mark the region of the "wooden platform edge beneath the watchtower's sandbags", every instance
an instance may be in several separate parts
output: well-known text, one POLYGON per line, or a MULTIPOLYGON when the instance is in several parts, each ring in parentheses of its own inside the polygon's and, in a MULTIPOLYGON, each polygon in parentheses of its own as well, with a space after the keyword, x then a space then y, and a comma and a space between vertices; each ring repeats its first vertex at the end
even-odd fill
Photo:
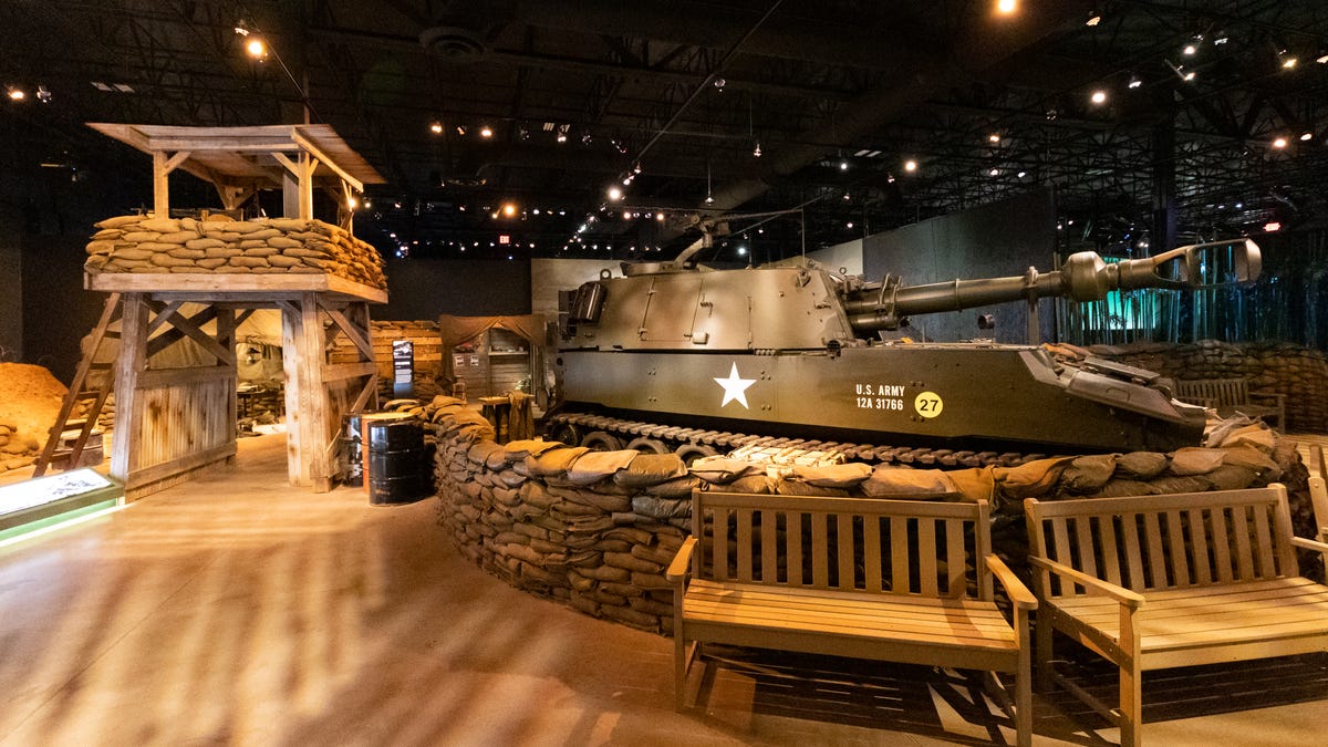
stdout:
MULTIPOLYGON (((90 291, 150 292, 161 300, 275 302, 291 294, 329 294, 339 300, 386 303, 388 291, 313 272, 85 272, 90 291)), ((327 298, 327 296, 325 296, 327 298)))

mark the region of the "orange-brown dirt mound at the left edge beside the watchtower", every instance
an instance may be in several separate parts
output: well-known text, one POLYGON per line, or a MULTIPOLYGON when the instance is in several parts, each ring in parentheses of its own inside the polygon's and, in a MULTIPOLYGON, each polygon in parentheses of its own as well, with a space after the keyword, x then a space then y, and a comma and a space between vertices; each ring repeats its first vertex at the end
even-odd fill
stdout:
POLYGON ((0 472, 32 464, 65 391, 41 366, 0 363, 0 472))

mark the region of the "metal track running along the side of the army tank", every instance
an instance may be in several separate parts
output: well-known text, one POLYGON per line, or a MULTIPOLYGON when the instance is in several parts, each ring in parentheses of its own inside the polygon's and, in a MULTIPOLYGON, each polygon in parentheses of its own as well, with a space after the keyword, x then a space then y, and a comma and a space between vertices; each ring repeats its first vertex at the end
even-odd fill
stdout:
MULTIPOLYGON (((789 439, 776 436, 753 436, 730 433, 728 431, 705 431, 661 425, 639 420, 623 420, 604 415, 559 412, 544 421, 544 432, 555 433, 560 428, 572 427, 584 439, 591 433, 608 433, 623 441, 624 448, 636 448, 641 440, 656 441, 668 451, 692 449, 700 453, 725 453, 738 448, 774 448, 790 451, 819 451, 842 453, 849 461, 869 464, 904 464, 936 469, 963 469, 971 467, 1016 467, 1029 461, 1046 459, 1041 453, 1017 452, 973 452, 919 447, 887 447, 875 444, 846 444, 839 441, 819 441, 810 439, 789 439)), ((644 444, 643 444, 644 445, 644 444)))

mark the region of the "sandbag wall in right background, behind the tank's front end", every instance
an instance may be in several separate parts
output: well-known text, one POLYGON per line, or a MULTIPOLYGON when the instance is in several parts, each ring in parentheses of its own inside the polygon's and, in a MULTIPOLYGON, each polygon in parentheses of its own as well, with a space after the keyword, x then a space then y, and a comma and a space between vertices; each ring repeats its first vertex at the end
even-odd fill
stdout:
POLYGON ((1289 343, 1218 340, 1048 347, 1072 360, 1092 355, 1171 379, 1248 379, 1251 392, 1287 395, 1288 432, 1328 432, 1328 359, 1317 350, 1289 343))

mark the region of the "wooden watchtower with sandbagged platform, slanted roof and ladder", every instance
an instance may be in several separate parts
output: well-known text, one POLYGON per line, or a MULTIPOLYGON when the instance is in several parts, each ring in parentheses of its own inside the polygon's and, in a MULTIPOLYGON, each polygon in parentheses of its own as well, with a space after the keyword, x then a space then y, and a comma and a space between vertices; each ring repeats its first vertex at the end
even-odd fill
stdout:
MULTIPOLYGON (((89 400, 81 448, 113 385, 110 473, 129 500, 232 461, 235 328, 255 308, 278 308, 290 481, 331 489, 344 416, 376 405, 369 303, 388 294, 382 261, 351 235, 349 211, 337 225, 313 219, 313 190, 329 189, 345 205, 384 179, 325 125, 90 126, 151 156, 153 211, 98 223, 88 246, 84 284, 109 296, 52 440, 68 433, 76 403, 89 400), (173 217, 175 169, 212 183, 230 214, 173 217), (286 215, 239 219, 240 205, 266 189, 282 190, 286 215), (98 379, 97 348, 114 336, 117 318, 118 355, 98 379), (328 362, 340 335, 360 360, 328 362), (186 355, 165 355, 181 346, 186 355)), ((48 443, 39 475, 52 451, 48 443)))

